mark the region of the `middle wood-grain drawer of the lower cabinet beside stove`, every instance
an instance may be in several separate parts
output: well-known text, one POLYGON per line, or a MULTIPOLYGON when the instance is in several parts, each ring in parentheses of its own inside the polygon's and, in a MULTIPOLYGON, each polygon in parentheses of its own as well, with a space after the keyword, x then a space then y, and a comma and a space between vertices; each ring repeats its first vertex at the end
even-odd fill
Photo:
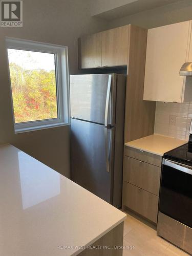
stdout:
POLYGON ((124 161, 124 181, 159 196, 161 168, 127 156, 124 161))

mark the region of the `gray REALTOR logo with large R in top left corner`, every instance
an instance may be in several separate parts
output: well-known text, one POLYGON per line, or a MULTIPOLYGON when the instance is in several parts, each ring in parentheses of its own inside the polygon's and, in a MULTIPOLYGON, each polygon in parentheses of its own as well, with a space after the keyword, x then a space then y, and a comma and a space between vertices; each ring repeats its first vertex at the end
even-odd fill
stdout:
POLYGON ((23 27, 23 1, 1 1, 1 27, 23 27))

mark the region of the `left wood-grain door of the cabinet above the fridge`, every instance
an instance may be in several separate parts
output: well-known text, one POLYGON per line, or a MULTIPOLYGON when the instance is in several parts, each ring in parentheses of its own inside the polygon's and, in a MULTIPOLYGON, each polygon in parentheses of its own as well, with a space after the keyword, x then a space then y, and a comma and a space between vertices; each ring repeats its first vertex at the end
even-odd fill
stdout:
POLYGON ((101 67, 102 33, 96 33, 79 39, 79 68, 101 67))

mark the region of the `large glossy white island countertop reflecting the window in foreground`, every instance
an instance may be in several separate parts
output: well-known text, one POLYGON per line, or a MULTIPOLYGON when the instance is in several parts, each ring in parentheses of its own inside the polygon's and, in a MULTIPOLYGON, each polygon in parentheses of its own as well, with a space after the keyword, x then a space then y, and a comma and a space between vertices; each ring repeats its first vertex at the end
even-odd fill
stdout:
POLYGON ((76 255, 125 218, 16 147, 0 146, 0 255, 76 255))

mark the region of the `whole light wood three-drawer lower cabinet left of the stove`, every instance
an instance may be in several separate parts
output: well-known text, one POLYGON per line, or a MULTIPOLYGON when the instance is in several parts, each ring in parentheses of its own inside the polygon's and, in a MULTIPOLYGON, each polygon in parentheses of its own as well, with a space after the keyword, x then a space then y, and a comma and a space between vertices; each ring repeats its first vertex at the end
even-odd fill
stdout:
POLYGON ((122 208, 157 223, 162 157, 124 147, 122 208))

